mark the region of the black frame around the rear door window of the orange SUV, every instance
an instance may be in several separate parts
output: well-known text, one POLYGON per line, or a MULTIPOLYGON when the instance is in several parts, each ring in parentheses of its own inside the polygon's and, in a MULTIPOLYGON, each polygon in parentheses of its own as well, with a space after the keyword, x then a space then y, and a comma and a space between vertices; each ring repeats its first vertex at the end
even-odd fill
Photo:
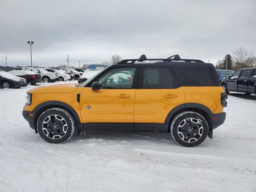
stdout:
POLYGON ((172 68, 169 66, 143 66, 140 67, 139 70, 139 76, 138 76, 138 84, 137 84, 137 89, 153 89, 153 88, 143 88, 143 72, 144 68, 167 68, 172 76, 172 88, 155 88, 155 89, 176 89, 180 87, 180 83, 178 82, 176 76, 174 75, 174 72, 172 71, 172 68), (174 84, 175 82, 175 84, 174 84))

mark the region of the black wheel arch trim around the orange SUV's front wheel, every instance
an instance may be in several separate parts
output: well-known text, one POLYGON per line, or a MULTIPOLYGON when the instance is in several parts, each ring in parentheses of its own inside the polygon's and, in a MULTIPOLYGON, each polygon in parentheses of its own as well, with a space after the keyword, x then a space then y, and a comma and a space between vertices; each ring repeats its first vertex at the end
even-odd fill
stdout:
POLYGON ((80 122, 80 118, 79 118, 76 110, 74 110, 74 108, 72 108, 70 105, 68 105, 64 102, 61 102, 61 101, 47 101, 47 102, 43 102, 43 103, 39 104, 38 106, 36 106, 33 109, 33 112, 34 112, 34 128, 35 128, 36 133, 38 133, 36 125, 37 125, 37 121, 38 121, 39 116, 44 111, 46 111, 50 108, 55 108, 55 107, 63 108, 63 109, 66 109, 68 112, 70 112, 70 114, 76 120, 77 128, 80 129, 80 126, 82 126, 82 123, 80 122))

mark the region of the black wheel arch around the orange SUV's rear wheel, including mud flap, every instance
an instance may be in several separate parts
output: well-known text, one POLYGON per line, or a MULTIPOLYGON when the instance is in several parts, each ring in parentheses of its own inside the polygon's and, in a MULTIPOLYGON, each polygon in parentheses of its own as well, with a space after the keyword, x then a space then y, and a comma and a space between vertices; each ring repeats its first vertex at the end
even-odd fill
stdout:
MULTIPOLYGON (((211 122, 211 118, 209 115, 209 114, 212 114, 212 110, 210 110, 210 108, 208 108, 202 104, 185 103, 185 104, 178 105, 168 113, 164 123, 170 125, 172 119, 177 114, 184 112, 184 111, 193 111, 193 112, 196 112, 196 113, 202 115, 205 118, 206 122, 208 123, 208 127, 209 127, 208 137, 210 137, 212 139, 212 122, 211 122)), ((170 126, 168 126, 168 132, 170 132, 170 126)))

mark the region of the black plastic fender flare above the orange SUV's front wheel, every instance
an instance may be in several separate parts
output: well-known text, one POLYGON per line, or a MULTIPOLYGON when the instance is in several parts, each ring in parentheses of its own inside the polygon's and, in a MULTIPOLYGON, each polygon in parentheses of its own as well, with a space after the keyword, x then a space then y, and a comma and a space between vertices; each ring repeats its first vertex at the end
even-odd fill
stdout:
MULTIPOLYGON (((34 112, 34 114, 37 114, 37 112, 40 110, 40 109, 42 109, 42 108, 44 108, 44 107, 46 107, 46 106, 56 106, 56 107, 58 107, 58 106, 61 106, 61 107, 64 107, 64 108, 66 108, 66 109, 68 109, 70 112, 71 112, 71 114, 74 116, 74 118, 75 118, 75 120, 76 120, 76 126, 78 127, 78 129, 80 130, 82 130, 83 128, 83 124, 80 122, 80 118, 79 118, 79 116, 78 116, 78 114, 77 114, 77 112, 76 112, 76 110, 74 110, 74 108, 72 108, 70 105, 68 105, 68 104, 66 104, 66 103, 64 103, 64 102, 61 102, 61 101, 46 101, 46 102, 43 102, 43 103, 40 103, 38 106, 36 106, 33 110, 32 110, 32 112, 34 112)), ((38 118, 38 117, 37 117, 38 118)), ((35 131, 36 131, 36 133, 37 133, 37 128, 36 128, 36 122, 35 122, 35 120, 34 120, 34 127, 35 127, 35 131)))

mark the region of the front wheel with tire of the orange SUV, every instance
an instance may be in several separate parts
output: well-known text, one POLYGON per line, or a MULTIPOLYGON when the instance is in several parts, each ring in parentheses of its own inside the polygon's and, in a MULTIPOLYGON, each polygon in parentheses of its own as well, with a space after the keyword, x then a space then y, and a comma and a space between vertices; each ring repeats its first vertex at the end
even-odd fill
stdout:
POLYGON ((49 143, 66 142, 75 130, 75 120, 65 109, 51 108, 43 112, 37 121, 37 130, 49 143))

